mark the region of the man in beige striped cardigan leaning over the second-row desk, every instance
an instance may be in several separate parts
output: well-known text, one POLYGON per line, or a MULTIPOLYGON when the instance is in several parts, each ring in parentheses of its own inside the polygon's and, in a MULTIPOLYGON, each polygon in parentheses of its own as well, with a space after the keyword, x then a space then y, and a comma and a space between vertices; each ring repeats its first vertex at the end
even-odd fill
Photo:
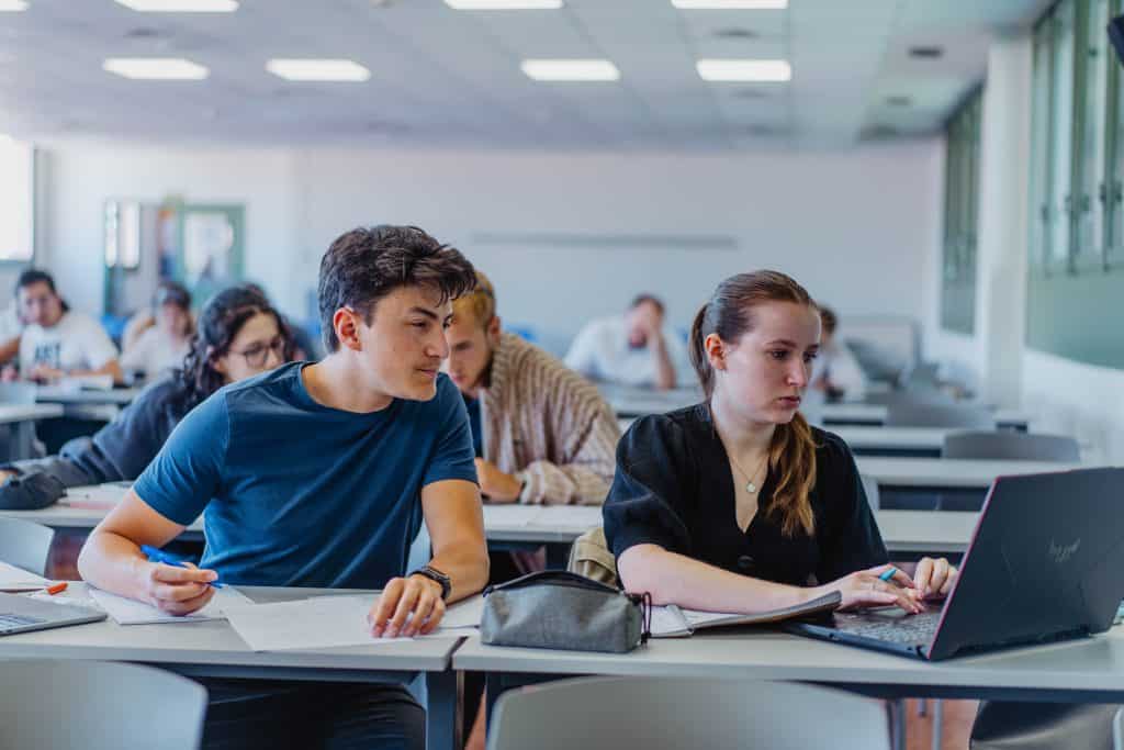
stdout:
POLYGON ((477 286, 453 302, 447 372, 472 424, 477 475, 492 503, 600 505, 620 428, 592 385, 510 333, 496 292, 477 286))

